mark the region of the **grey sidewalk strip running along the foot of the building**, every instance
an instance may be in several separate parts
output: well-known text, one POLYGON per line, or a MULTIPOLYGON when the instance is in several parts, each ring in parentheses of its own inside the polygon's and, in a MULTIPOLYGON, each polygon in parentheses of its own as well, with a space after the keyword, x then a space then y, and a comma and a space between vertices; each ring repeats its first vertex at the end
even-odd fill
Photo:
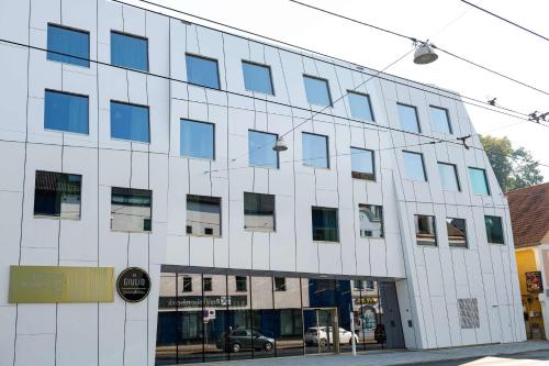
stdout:
POLYGON ((200 365, 211 366, 390 366, 422 364, 428 362, 440 362, 470 357, 483 357, 495 355, 512 355, 523 352, 549 350, 547 341, 528 341, 520 343, 506 343, 482 346, 470 346, 459 348, 445 348, 433 351, 372 351, 359 353, 357 356, 350 354, 341 355, 313 355, 298 357, 246 359, 220 363, 206 363, 200 365))

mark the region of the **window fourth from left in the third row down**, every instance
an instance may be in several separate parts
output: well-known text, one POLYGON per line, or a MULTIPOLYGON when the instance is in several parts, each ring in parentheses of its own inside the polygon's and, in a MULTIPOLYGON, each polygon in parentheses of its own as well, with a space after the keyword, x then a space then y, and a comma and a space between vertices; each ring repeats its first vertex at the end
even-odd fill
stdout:
POLYGON ((274 231, 274 196, 244 192, 244 229, 274 231))

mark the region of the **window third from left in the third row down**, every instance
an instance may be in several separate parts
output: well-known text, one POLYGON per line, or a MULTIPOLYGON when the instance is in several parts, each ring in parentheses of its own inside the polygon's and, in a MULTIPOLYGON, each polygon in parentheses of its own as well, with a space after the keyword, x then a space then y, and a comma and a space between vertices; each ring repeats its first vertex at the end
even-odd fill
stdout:
POLYGON ((192 235, 221 237, 221 198, 187 195, 187 226, 192 235))

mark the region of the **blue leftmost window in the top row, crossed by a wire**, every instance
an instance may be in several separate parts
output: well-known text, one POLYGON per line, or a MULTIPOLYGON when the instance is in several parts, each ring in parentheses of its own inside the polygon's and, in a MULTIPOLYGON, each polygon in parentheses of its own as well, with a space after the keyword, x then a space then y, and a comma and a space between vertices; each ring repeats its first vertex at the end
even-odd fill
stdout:
POLYGON ((47 24, 47 51, 53 51, 47 53, 47 59, 90 67, 88 32, 47 24))

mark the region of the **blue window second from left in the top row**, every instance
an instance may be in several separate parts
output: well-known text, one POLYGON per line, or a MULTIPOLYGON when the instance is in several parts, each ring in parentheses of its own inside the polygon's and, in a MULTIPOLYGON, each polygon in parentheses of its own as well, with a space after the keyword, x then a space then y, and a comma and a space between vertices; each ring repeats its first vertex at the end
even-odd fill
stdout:
POLYGON ((148 71, 147 38, 112 31, 111 64, 148 71))

